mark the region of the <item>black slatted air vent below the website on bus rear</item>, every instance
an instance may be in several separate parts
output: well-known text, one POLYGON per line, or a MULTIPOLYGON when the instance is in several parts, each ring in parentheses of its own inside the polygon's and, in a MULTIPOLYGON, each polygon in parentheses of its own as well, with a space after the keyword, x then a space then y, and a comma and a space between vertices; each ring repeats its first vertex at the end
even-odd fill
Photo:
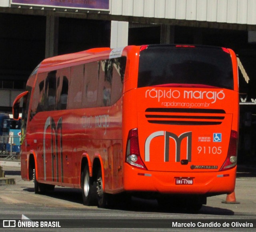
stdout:
POLYGON ((225 118, 223 109, 148 108, 149 123, 166 125, 220 125, 225 118))

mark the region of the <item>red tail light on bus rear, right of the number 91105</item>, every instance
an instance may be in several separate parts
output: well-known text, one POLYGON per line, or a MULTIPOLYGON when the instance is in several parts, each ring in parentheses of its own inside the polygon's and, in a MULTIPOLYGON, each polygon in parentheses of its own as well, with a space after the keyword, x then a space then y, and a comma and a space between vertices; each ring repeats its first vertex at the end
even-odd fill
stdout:
POLYGON ((231 131, 230 141, 228 146, 228 155, 220 171, 226 171, 236 166, 237 146, 238 146, 238 133, 237 131, 231 131))

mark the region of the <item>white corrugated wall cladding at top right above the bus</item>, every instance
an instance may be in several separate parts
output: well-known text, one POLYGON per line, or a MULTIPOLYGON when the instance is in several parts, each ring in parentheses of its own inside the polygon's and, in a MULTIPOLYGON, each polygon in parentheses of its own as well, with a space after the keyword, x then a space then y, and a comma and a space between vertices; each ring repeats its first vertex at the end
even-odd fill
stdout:
POLYGON ((256 0, 110 0, 110 14, 256 24, 256 0))

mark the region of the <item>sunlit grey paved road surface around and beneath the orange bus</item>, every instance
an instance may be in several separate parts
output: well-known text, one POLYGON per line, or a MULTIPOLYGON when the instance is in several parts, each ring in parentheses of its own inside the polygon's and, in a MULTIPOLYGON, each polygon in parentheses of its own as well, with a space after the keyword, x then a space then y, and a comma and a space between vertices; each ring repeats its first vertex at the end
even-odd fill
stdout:
MULTIPOLYGON (((151 219, 256 220, 256 174, 254 169, 248 171, 248 169, 241 167, 237 175, 235 194, 236 200, 240 204, 222 204, 221 202, 226 199, 226 195, 213 196, 208 198, 207 205, 203 206, 198 214, 188 214, 181 210, 161 210, 155 200, 141 200, 138 198, 134 198, 132 205, 129 207, 120 206, 111 210, 84 206, 80 190, 56 187, 54 192, 48 195, 34 194, 34 183, 23 181, 20 178, 20 168, 3 166, 3 169, 6 176, 16 178, 16 184, 0 186, 1 219, 21 219, 23 214, 30 219, 97 219, 96 223, 99 225, 100 223, 106 223, 106 221, 99 219, 129 219, 131 224, 135 223, 137 219, 146 219, 148 222, 158 222, 159 225, 161 224, 160 221, 151 219)), ((110 223, 113 223, 111 220, 110 223)), ((115 222, 118 223, 118 221, 115 222)), ((154 224, 153 227, 158 226, 154 224)), ((103 230, 119 231, 120 229, 98 229, 97 231, 103 230)), ((127 229, 127 231, 130 230, 127 229)), ((193 229, 190 228, 190 230, 193 229)), ((223 229, 223 231, 227 230, 234 231, 234 229, 223 229)), ((246 230, 248 229, 244 231, 246 230)), ((54 231, 58 231, 58 229, 54 231)), ((70 229, 61 229, 59 231, 70 231, 70 229)), ((96 230, 87 228, 84 231, 96 230)), ((122 229, 122 231, 126 230, 122 229)), ((153 230, 152 228, 143 228, 136 231, 153 230)), ((154 231, 164 231, 164 229, 156 228, 154 231)), ((205 228, 204 231, 206 231, 205 228)))

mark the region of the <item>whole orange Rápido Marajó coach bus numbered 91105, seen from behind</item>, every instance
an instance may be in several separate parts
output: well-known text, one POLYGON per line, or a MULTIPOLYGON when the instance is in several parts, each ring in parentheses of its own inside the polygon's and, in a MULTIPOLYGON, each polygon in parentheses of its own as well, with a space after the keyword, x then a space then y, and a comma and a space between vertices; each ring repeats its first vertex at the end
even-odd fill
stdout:
POLYGON ((238 69, 226 48, 145 45, 48 58, 23 99, 21 175, 35 192, 81 188, 85 205, 121 193, 200 209, 234 191, 238 69))

